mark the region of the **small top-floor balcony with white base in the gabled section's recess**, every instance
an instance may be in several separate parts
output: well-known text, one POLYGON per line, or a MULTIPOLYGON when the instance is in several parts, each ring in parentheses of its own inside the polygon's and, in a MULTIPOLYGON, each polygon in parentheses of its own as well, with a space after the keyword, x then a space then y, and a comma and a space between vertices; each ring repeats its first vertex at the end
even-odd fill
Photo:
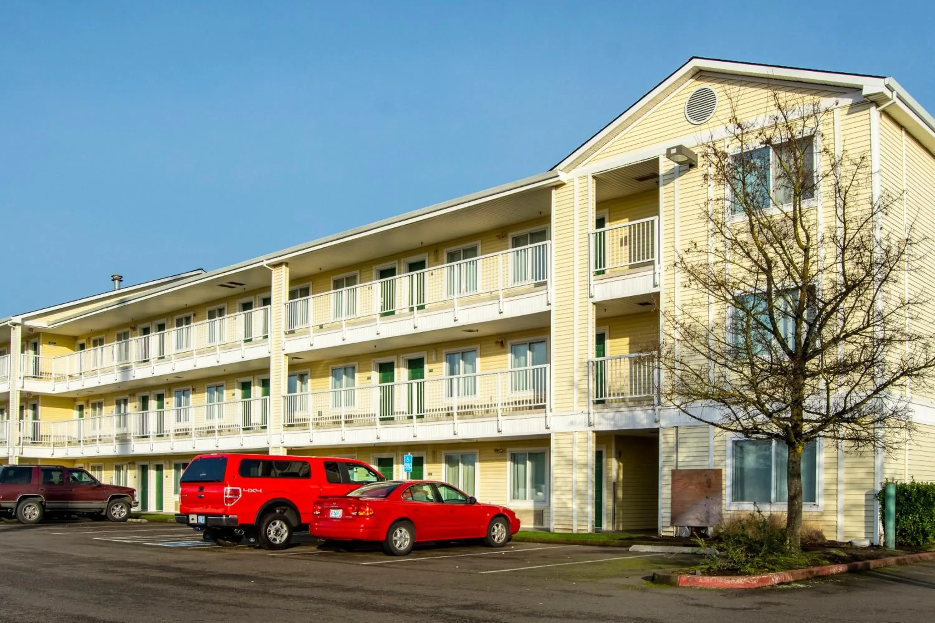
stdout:
POLYGON ((609 301, 657 291, 658 235, 658 217, 592 231, 588 237, 591 298, 609 301))

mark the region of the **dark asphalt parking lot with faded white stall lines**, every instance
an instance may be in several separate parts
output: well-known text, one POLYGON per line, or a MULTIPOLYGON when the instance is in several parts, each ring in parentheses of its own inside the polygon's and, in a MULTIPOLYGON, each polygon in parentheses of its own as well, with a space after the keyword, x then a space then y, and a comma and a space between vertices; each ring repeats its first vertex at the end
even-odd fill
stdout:
POLYGON ((0 621, 928 621, 935 564, 783 588, 660 588, 691 557, 511 543, 281 552, 174 524, 0 524, 0 621))

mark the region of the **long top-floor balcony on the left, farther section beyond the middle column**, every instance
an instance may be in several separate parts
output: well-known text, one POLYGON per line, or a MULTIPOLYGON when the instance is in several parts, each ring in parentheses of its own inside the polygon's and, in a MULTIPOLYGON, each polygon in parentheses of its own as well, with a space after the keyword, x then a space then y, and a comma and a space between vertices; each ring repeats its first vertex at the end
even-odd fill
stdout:
POLYGON ((23 389, 69 391, 269 357, 269 308, 58 357, 22 354, 23 389))

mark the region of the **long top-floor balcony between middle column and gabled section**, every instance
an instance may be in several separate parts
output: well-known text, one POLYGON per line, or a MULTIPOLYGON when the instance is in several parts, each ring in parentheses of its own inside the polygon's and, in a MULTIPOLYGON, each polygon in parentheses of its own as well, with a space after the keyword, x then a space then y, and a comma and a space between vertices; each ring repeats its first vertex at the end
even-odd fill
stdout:
POLYGON ((551 244, 543 242, 289 301, 285 349, 364 345, 445 329, 455 335, 465 325, 501 319, 525 317, 525 326, 536 326, 528 317, 548 311, 550 266, 551 244))

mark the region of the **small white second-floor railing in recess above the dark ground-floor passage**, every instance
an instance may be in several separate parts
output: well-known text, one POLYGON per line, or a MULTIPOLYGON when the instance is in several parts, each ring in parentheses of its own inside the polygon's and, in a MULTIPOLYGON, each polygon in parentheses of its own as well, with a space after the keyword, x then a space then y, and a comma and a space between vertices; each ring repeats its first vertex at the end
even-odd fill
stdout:
POLYGON ((653 398, 655 378, 654 357, 647 353, 588 361, 588 391, 594 404, 653 398))

